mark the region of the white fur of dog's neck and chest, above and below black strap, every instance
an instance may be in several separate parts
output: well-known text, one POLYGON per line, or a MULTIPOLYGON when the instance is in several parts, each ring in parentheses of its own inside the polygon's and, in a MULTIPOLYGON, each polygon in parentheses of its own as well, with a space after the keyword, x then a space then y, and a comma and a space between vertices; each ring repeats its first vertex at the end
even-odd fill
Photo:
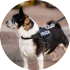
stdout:
POLYGON ((24 55, 30 56, 30 57, 35 57, 33 39, 23 40, 23 39, 21 39, 21 36, 23 36, 24 38, 31 37, 32 35, 36 34, 39 31, 38 25, 36 24, 35 21, 33 21, 33 22, 34 22, 34 25, 30 30, 26 31, 26 30, 24 30, 24 27, 21 26, 17 31, 17 34, 19 35, 19 48, 20 48, 21 52, 24 55))

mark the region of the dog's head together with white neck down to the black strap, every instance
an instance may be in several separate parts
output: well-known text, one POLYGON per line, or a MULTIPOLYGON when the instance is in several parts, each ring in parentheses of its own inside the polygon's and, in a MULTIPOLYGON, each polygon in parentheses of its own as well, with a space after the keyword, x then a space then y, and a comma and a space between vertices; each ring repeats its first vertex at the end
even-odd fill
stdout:
POLYGON ((7 27, 15 30, 18 36, 31 37, 38 32, 39 27, 32 18, 24 14, 22 7, 19 13, 13 15, 11 21, 6 21, 7 27))

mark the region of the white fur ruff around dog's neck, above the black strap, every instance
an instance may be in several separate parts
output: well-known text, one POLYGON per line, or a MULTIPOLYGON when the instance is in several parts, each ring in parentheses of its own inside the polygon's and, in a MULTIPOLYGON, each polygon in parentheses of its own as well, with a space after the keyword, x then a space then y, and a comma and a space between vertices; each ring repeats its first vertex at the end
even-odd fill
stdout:
MULTIPOLYGON (((31 19, 31 18, 30 18, 31 19)), ((32 20, 32 19, 31 19, 32 20)), ((32 20, 33 21, 33 20, 32 20)), ((39 31, 39 27, 35 21, 33 27, 30 30, 24 30, 23 26, 21 26, 18 30, 15 30, 15 33, 18 37, 23 36, 24 38, 29 38, 32 35, 36 34, 39 31)))

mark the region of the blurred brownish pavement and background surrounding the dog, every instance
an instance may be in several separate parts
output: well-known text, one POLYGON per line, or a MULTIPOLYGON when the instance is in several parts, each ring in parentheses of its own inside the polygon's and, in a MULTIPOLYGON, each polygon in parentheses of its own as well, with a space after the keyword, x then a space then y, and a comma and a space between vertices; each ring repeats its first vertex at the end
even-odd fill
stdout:
MULTIPOLYGON (((11 20, 12 16, 19 12, 19 8, 21 6, 23 7, 24 13, 30 16, 39 26, 44 26, 48 21, 51 20, 57 21, 65 15, 55 5, 43 0, 23 1, 8 11, 0 27, 1 47, 11 62, 20 67, 23 67, 23 61, 19 51, 18 37, 15 35, 13 30, 7 28, 6 26, 6 21, 11 20)), ((59 23, 70 42, 70 28, 67 19, 62 20, 59 23)), ((59 60, 61 60, 64 56, 65 51, 63 51, 61 48, 58 48, 56 50, 56 54, 60 55, 61 57, 58 57, 58 61, 55 62, 52 62, 53 57, 50 55, 44 57, 44 69, 49 68, 59 62, 59 60)), ((38 70, 36 59, 29 58, 28 64, 30 70, 38 70)))

